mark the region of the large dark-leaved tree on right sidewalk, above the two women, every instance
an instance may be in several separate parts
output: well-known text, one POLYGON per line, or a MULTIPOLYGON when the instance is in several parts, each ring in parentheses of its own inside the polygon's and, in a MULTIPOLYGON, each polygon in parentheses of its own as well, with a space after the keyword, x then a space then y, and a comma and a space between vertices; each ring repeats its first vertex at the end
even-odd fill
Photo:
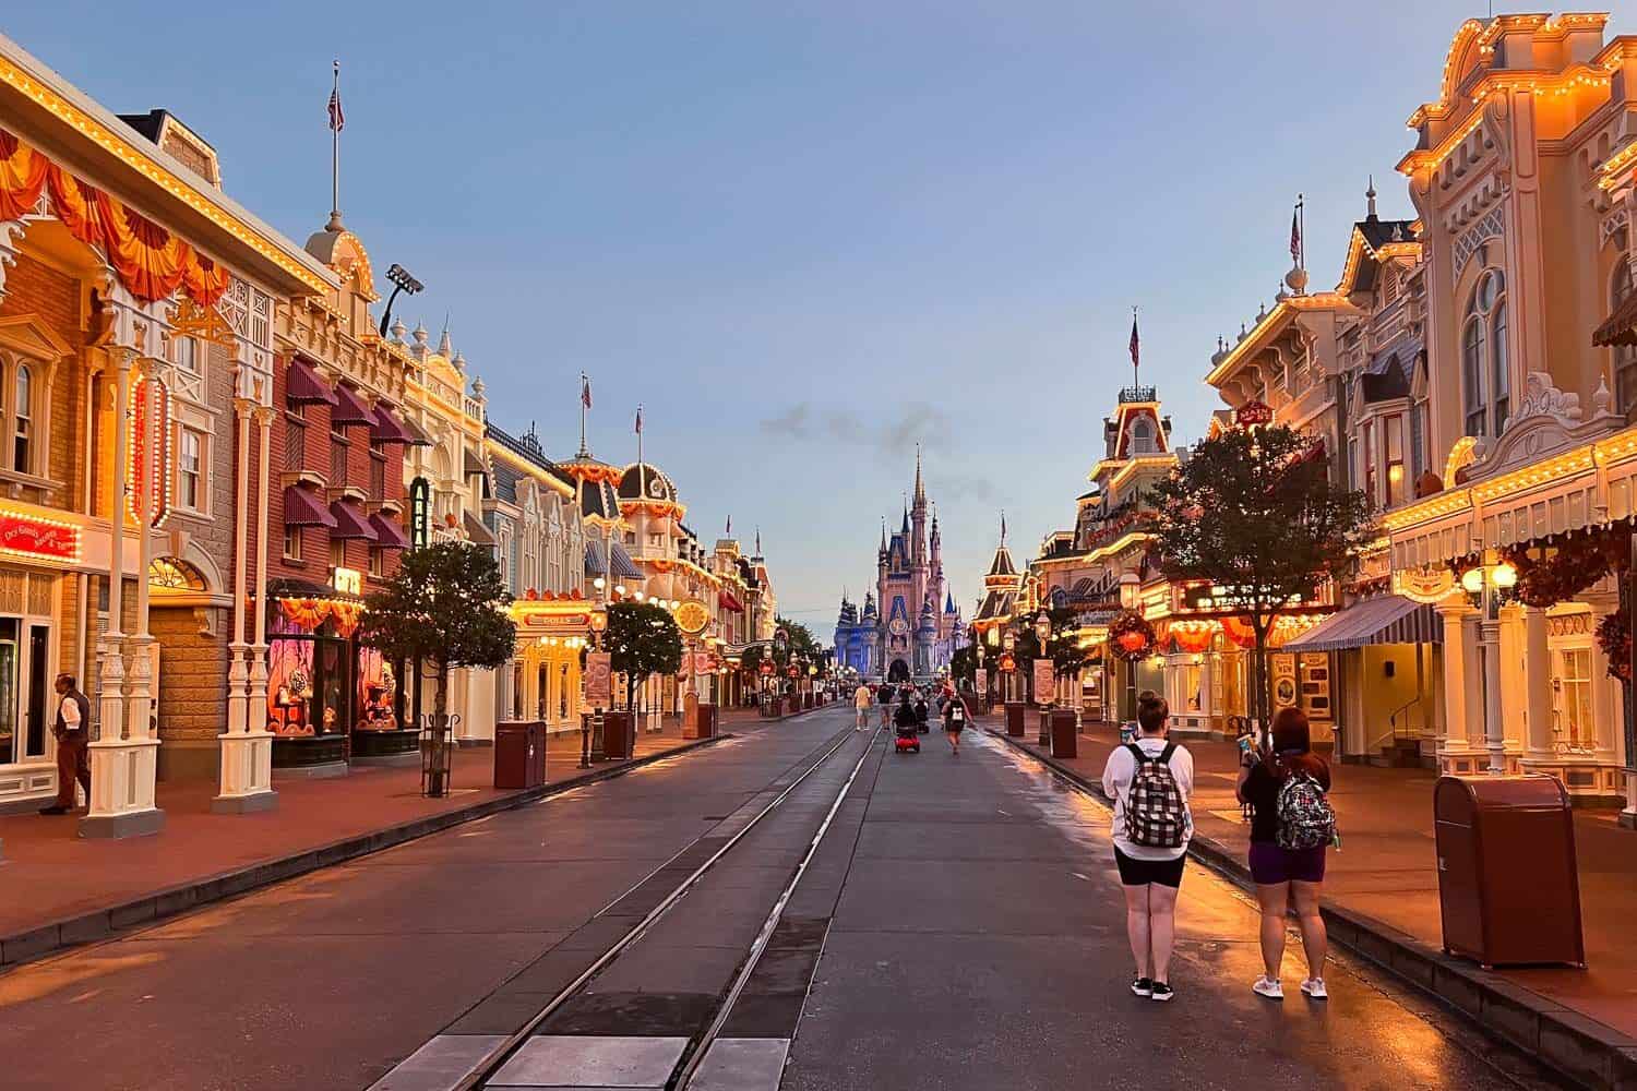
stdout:
POLYGON ((1292 602, 1346 579, 1375 538, 1370 501, 1329 479, 1323 440, 1288 425, 1202 440, 1149 492, 1169 579, 1208 584, 1256 636, 1254 713, 1269 723, 1267 633, 1292 602))

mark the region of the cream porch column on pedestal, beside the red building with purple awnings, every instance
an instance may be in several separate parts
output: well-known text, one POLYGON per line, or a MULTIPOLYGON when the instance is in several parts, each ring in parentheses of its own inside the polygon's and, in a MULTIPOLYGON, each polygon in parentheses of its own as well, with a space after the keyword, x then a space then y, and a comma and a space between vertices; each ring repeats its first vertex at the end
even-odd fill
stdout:
MULTIPOLYGON (((246 550, 250 527, 250 417, 255 402, 234 399, 237 440, 237 494, 234 497, 234 559, 232 559, 232 640, 228 644, 228 731, 221 736, 221 790, 211 800, 218 815, 244 815, 267 811, 278 805, 273 792, 273 744, 267 731, 267 682, 265 662, 262 677, 262 718, 250 730, 250 644, 246 641, 244 612, 252 599, 260 607, 262 595, 246 581, 246 550)), ((267 463, 259 474, 260 494, 267 494, 267 463)))

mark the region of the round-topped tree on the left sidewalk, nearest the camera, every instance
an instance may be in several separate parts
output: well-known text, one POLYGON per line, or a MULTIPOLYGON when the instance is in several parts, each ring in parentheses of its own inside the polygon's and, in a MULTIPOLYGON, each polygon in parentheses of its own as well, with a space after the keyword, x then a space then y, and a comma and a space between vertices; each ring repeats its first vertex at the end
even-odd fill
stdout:
POLYGON ((511 659, 517 630, 506 615, 509 602, 493 550, 435 541, 406 551, 398 571, 363 600, 359 641, 388 662, 431 662, 434 723, 444 723, 452 667, 493 669, 511 659))

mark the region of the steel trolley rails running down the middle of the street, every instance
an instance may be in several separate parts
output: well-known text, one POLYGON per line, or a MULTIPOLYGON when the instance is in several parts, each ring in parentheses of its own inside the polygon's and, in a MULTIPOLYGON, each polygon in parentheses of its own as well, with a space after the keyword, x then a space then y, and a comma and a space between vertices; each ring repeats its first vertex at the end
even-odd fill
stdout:
MULTIPOLYGON (((707 829, 701 837, 694 839, 684 846, 678 854, 668 859, 660 867, 653 869, 647 877, 635 883, 624 895, 616 898, 612 903, 604 906, 602 911, 593 919, 591 924, 599 923, 616 923, 622 918, 619 909, 625 903, 635 903, 638 906, 653 901, 656 891, 663 890, 663 896, 653 901, 652 908, 642 913, 640 919, 630 927, 617 927, 612 936, 612 942, 598 955, 589 965, 576 973, 566 985, 555 991, 543 1004, 529 1016, 521 1027, 514 1032, 504 1035, 498 1044, 483 1053, 483 1057, 467 1070, 467 1075, 457 1083, 452 1083, 453 1091, 478 1091, 488 1086, 507 1086, 511 1080, 504 1083, 491 1083, 498 1075, 501 1075, 509 1063, 512 1063, 521 1052, 525 1050, 529 1042, 540 1034, 547 1034, 553 1029, 553 1021, 560 1016, 571 1017, 570 1011, 576 1004, 584 1004, 588 999, 596 999, 591 996, 594 986, 611 977, 616 970, 624 967, 622 960, 634 959, 634 949, 638 949, 645 937, 655 934, 655 931, 671 916, 689 893, 699 890, 706 882, 712 882, 722 873, 722 864, 730 859, 735 849, 745 844, 746 837, 753 833, 766 829, 766 819, 781 813, 789 813, 791 806, 800 803, 797 808, 802 813, 792 815, 792 821, 804 821, 807 808, 822 810, 822 818, 817 819, 817 828, 810 836, 804 837, 805 844, 794 862, 791 875, 781 883, 776 896, 773 898, 771 911, 760 921, 760 927, 755 937, 750 941, 748 947, 743 949, 743 957, 733 968, 730 980, 725 983, 725 990, 714 998, 714 1006, 709 1017, 701 1019, 702 1029, 688 1032, 686 1047, 674 1062, 665 1088, 681 1089, 688 1088, 696 1078, 701 1063, 709 1053, 710 1045, 720 1037, 728 1016, 733 1011, 735 1003, 742 996, 746 981, 756 972, 761 963, 763 954, 769 949, 769 942, 774 941, 781 916, 791 901, 797 885, 807 873, 807 867, 812 862, 818 846, 823 842, 825 833, 828 833, 837 813, 846 801, 859 770, 864 762, 873 756, 879 754, 879 739, 882 731, 877 728, 868 733, 855 733, 850 728, 843 728, 825 739, 818 748, 809 751, 802 759, 789 765, 779 777, 776 777, 763 792, 751 797, 748 803, 738 808, 733 815, 725 816, 715 826, 707 829), (843 752, 845 751, 845 752, 843 752), (841 754, 840 765, 835 764, 837 756, 841 754), (856 759, 848 762, 848 757, 856 759), (845 770, 845 777, 840 779, 840 787, 830 783, 820 783, 820 780, 828 780, 828 775, 815 780, 815 775, 823 770, 835 770, 840 775, 845 770), (814 801, 817 797, 817 803, 814 801)), ((771 823, 768 823, 771 826, 771 823)), ((724 880, 727 882, 727 880, 724 880)), ((583 1029, 575 1029, 575 1034, 584 1034, 583 1029)), ((391 1075, 381 1081, 380 1086, 391 1086, 391 1075)))

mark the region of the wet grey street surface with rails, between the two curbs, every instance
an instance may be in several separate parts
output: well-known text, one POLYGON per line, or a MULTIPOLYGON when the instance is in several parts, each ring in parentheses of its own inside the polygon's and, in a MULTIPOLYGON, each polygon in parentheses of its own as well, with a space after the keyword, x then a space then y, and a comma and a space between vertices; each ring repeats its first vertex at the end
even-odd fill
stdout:
POLYGON ((1107 813, 966 739, 832 708, 25 965, 5 1086, 1511 1084, 1346 959, 1328 1004, 1254 996, 1252 906, 1197 867, 1177 999, 1136 999, 1107 813))

